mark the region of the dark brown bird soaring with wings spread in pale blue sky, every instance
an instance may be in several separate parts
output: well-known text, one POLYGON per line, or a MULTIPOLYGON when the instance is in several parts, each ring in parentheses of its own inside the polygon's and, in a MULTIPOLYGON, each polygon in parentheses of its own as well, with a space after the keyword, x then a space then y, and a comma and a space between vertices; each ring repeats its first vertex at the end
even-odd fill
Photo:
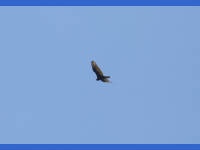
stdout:
POLYGON ((91 61, 91 65, 92 65, 92 70, 96 73, 97 75, 97 81, 101 80, 102 82, 110 82, 108 80, 108 78, 110 78, 110 76, 104 76, 103 72, 101 71, 101 69, 97 66, 97 64, 95 63, 95 61, 91 61))

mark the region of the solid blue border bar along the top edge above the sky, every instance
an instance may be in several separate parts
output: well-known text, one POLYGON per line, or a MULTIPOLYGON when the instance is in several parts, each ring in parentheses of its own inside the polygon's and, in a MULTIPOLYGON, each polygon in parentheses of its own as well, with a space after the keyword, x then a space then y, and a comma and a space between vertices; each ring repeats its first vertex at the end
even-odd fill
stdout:
POLYGON ((200 6, 200 0, 0 0, 0 6, 200 6))

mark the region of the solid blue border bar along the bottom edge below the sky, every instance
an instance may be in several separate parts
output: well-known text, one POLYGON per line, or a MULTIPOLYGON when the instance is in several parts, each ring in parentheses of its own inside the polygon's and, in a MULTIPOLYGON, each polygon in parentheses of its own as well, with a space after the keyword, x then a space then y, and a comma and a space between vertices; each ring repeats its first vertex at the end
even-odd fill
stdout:
POLYGON ((0 150, 200 150, 200 144, 0 144, 0 150))

